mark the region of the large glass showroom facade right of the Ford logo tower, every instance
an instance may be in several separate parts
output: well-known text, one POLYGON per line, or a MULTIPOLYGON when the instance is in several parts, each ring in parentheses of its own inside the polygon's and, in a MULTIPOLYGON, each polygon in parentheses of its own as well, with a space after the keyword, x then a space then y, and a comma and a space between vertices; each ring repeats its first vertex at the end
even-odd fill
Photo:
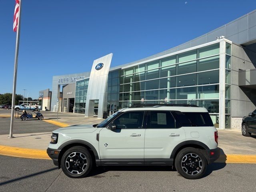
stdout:
MULTIPOLYGON (((231 108, 231 44, 228 43, 225 62, 228 128, 231 108)), ((108 82, 108 112, 133 104, 195 104, 205 107, 214 126, 219 127, 220 43, 110 72, 108 82), (115 78, 117 84, 113 85, 115 78)))

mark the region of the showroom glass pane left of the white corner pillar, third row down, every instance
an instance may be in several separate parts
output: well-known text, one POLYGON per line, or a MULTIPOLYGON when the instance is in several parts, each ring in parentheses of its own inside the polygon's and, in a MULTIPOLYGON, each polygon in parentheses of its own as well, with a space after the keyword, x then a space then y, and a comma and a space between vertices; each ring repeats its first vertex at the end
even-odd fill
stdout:
POLYGON ((198 73, 198 85, 219 83, 219 70, 198 73))

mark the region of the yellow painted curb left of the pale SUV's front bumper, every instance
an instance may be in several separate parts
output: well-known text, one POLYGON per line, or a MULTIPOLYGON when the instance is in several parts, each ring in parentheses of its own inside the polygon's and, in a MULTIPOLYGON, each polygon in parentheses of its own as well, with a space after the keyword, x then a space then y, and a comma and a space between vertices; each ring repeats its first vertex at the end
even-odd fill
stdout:
POLYGON ((0 145, 0 154, 13 157, 23 157, 31 159, 51 159, 46 150, 26 149, 0 145))

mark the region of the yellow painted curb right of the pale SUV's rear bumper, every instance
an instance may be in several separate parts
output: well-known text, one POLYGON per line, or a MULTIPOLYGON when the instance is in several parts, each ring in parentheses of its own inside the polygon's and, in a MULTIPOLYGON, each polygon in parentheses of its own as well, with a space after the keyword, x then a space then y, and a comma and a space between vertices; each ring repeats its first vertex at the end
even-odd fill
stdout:
POLYGON ((256 155, 226 154, 221 155, 216 163, 256 163, 256 155))

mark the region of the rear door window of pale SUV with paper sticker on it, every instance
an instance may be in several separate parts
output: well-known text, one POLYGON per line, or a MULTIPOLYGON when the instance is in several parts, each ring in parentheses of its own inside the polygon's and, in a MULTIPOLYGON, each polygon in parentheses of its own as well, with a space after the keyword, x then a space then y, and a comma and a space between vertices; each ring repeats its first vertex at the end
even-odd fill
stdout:
POLYGON ((151 111, 149 128, 175 128, 175 121, 169 111, 151 111))

